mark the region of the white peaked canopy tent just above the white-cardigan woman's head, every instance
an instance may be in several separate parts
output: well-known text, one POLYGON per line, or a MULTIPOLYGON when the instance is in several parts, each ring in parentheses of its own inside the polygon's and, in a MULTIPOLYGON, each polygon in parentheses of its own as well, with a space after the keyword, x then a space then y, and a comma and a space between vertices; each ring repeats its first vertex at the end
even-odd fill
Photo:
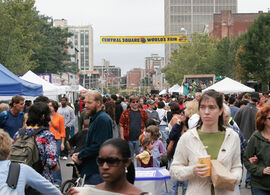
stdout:
POLYGON ((233 79, 230 78, 225 78, 213 85, 211 85, 210 87, 202 90, 202 93, 204 93, 205 91, 209 90, 209 89, 214 89, 218 92, 221 93, 225 93, 225 94, 229 94, 229 93, 244 93, 244 92, 254 92, 255 90, 247 87, 233 79))

